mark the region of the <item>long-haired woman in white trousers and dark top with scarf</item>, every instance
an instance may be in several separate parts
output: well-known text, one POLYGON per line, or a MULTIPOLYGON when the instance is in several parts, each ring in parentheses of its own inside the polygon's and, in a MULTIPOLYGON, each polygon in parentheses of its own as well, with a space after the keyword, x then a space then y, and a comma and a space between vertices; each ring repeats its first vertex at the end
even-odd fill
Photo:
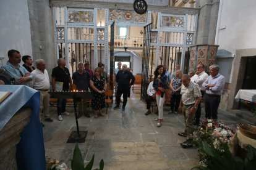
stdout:
POLYGON ((160 127, 163 121, 163 105, 165 101, 164 92, 169 89, 168 78, 164 73, 163 65, 158 65, 158 67, 156 67, 153 87, 156 91, 156 103, 158 105, 158 118, 155 119, 158 123, 156 126, 160 127))

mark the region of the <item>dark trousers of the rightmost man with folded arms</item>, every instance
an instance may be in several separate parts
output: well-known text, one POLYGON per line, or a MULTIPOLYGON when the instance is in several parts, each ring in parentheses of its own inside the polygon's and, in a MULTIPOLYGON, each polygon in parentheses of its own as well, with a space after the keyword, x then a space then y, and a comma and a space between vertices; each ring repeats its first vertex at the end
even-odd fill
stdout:
POLYGON ((205 118, 218 119, 220 100, 220 95, 205 94, 205 118))

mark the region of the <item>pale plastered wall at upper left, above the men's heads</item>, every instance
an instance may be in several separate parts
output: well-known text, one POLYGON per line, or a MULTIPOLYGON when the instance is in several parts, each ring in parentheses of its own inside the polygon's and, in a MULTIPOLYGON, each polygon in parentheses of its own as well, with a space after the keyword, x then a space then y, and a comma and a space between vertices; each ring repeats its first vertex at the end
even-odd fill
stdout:
MULTIPOLYGON (((5 65, 10 49, 32 55, 32 41, 27 0, 0 1, 0 57, 5 65)), ((1 65, 1 63, 0 63, 1 65)))

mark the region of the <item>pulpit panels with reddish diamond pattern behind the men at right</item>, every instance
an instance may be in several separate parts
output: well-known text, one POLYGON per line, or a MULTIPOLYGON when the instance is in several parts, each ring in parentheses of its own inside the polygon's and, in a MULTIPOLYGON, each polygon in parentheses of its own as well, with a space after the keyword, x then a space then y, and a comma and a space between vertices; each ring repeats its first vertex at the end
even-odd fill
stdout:
POLYGON ((218 45, 195 45, 191 46, 189 71, 197 70, 197 65, 203 63, 205 71, 209 70, 210 65, 215 63, 215 58, 218 50, 218 45))

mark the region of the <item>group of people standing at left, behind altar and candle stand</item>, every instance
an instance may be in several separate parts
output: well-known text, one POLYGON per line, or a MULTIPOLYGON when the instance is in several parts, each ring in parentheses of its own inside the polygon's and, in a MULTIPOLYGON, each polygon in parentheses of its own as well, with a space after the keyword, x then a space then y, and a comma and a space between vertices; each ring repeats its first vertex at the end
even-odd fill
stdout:
MULTIPOLYGON (((45 69, 46 64, 43 59, 35 60, 34 68, 32 66, 33 60, 29 55, 21 57, 20 52, 17 50, 8 51, 7 64, 4 65, 4 70, 9 77, 14 78, 14 83, 17 85, 30 86, 40 92, 40 121, 42 122, 43 116, 45 121, 52 122, 53 119, 49 116, 49 88, 50 81, 48 71, 45 69), (23 65, 20 65, 21 59, 23 65)), ((60 58, 57 61, 58 66, 53 68, 51 75, 51 84, 53 91, 58 89, 60 91, 69 91, 73 89, 73 85, 79 91, 91 91, 94 99, 92 100, 92 108, 95 110, 95 118, 103 116, 101 109, 105 107, 105 91, 108 82, 108 73, 104 71, 105 65, 98 63, 98 67, 95 68, 93 73, 90 70, 90 63, 78 63, 78 70, 70 76, 69 69, 66 68, 66 60, 60 58)), ((7 76, 1 77, 1 84, 11 84, 11 81, 7 76)), ((66 111, 66 99, 57 100, 57 114, 59 121, 62 121, 62 115, 70 115, 66 111)), ((87 112, 87 101, 81 100, 78 102, 79 116, 82 113, 90 118, 87 112)), ((42 126, 45 126, 42 123, 42 126)))

